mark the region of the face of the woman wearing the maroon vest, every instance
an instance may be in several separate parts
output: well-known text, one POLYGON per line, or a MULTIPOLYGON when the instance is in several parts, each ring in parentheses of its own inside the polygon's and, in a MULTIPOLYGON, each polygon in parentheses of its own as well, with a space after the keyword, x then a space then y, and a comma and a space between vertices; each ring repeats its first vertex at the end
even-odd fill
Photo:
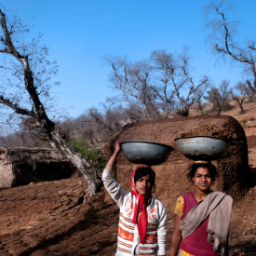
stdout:
POLYGON ((195 171, 195 176, 192 178, 195 183, 195 187, 202 191, 208 191, 212 184, 212 179, 209 174, 209 168, 197 168, 195 171))

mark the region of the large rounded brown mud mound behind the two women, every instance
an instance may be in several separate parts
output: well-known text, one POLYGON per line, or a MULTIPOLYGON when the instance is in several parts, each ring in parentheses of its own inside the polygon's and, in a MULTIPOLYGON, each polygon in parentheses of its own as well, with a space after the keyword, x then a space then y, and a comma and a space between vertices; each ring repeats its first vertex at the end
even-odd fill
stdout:
MULTIPOLYGON (((213 162, 218 168, 220 178, 215 189, 224 191, 238 200, 248 190, 249 164, 245 132, 231 116, 195 116, 173 119, 152 120, 129 125, 105 146, 106 160, 112 155, 115 140, 119 141, 157 141, 172 146, 175 151, 168 161, 154 167, 156 172, 155 196, 163 201, 171 216, 175 200, 179 195, 191 190, 193 184, 187 181, 187 168, 193 163, 177 149, 174 141, 182 136, 214 136, 233 139, 234 143, 225 159, 213 162)), ((129 177, 135 165, 120 154, 115 166, 115 178, 129 191, 129 177)), ((106 198, 109 200, 109 197, 106 198)))

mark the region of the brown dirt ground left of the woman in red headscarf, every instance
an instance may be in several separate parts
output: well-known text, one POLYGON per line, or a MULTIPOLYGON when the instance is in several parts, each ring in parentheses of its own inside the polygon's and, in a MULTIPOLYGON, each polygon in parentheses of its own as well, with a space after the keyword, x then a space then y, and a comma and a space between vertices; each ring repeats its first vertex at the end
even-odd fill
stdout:
POLYGON ((83 202, 82 178, 0 192, 0 255, 113 255, 118 208, 83 202), (43 210, 42 210, 43 209, 43 210))

